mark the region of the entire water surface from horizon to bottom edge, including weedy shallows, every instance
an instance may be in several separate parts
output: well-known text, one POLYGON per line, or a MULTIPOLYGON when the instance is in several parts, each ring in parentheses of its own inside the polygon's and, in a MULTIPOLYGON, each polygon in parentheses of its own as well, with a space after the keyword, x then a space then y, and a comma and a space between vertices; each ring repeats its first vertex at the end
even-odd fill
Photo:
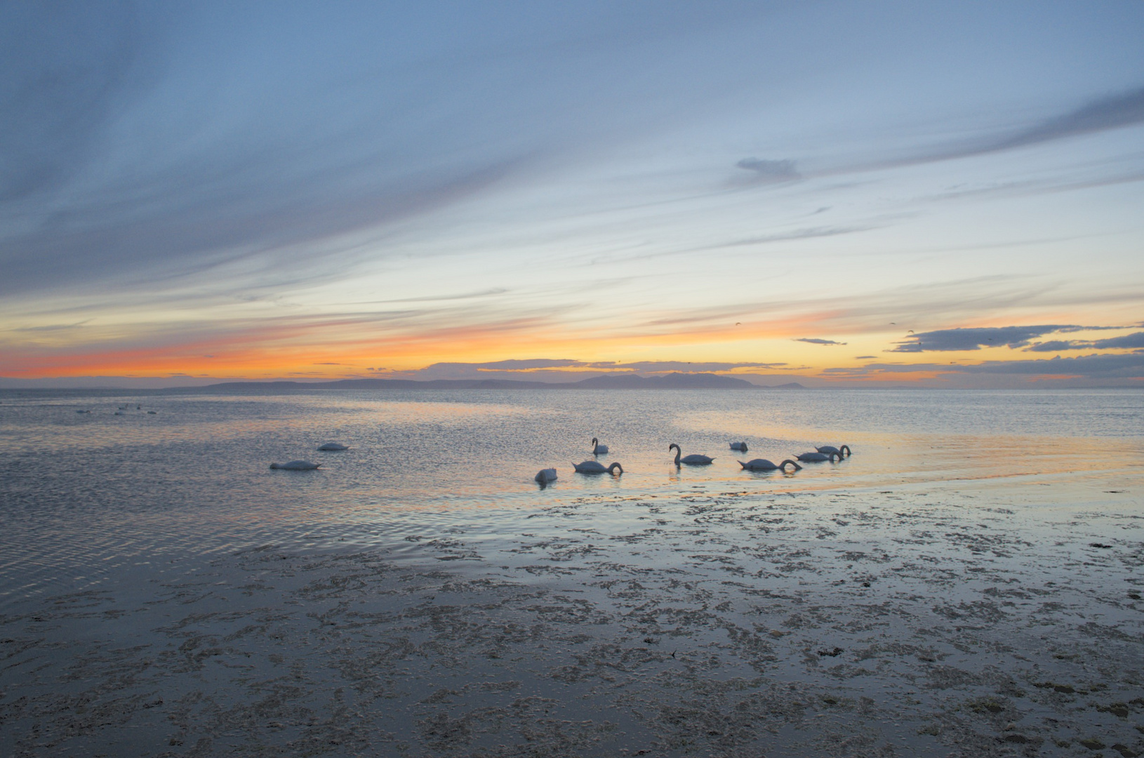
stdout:
POLYGON ((0 752, 1144 755, 1142 420, 1129 391, 9 392, 0 752), (594 436, 626 473, 571 472, 594 436), (855 453, 747 473, 732 439, 855 453), (295 457, 323 468, 268 468, 295 457))

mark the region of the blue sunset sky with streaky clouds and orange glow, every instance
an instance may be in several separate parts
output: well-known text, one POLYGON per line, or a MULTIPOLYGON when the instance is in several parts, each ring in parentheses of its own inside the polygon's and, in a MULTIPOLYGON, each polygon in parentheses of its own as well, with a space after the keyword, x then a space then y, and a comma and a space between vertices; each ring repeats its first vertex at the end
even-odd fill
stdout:
POLYGON ((0 2, 0 386, 1144 386, 1144 3, 0 2))

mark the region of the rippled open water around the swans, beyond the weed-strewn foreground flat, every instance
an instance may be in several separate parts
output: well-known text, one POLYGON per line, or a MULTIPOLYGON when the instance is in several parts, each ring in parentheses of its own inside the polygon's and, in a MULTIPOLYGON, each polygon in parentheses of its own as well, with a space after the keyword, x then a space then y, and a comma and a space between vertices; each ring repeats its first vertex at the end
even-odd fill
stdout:
POLYGON ((1036 478, 1052 497, 1083 498, 1135 486, 1142 455, 1144 393, 1130 390, 8 391, 0 598, 81 589, 168 556, 392 542, 447 529, 462 511, 491 535, 518 534, 530 508, 599 495, 1036 478), (593 458, 593 437, 611 447, 601 462, 619 461, 622 476, 573 473, 572 462, 593 458), (728 447, 740 439, 746 455, 728 447), (317 452, 325 441, 350 449, 317 452), (670 442, 715 463, 676 469, 670 442), (793 474, 736 463, 825 444, 848 444, 853 456, 793 474), (321 469, 269 469, 294 458, 321 469), (541 489, 532 478, 548 466, 559 479, 541 489))

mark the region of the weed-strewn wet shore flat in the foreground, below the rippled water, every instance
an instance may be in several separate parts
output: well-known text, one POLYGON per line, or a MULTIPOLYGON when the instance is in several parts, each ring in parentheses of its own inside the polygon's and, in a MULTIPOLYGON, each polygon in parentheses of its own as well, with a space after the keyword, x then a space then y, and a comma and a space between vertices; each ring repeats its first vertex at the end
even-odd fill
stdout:
POLYGON ((1139 494, 1044 482, 594 496, 13 603, 0 752, 1144 755, 1139 494))

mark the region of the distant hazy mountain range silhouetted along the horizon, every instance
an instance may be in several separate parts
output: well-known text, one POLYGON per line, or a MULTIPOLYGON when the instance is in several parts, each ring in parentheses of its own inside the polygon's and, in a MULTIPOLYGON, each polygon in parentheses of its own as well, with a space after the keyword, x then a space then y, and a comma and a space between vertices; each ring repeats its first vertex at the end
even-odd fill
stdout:
POLYGON ((336 382, 223 382, 206 386, 177 388, 184 392, 243 392, 288 390, 801 390, 797 382, 764 388, 718 374, 636 374, 593 376, 579 382, 523 382, 517 380, 339 380, 336 382))

